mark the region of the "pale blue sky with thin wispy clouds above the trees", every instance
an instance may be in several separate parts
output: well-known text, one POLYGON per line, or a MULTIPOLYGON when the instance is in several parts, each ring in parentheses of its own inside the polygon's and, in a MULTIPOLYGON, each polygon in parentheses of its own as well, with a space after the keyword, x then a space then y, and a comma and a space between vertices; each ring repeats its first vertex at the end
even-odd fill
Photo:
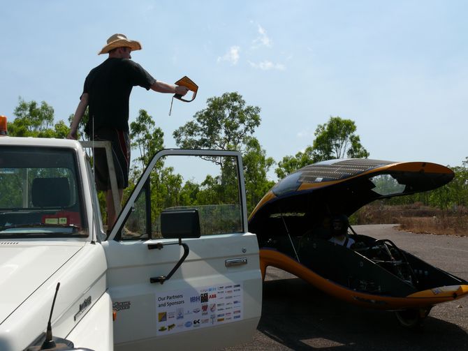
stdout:
POLYGON ((192 103, 136 87, 173 130, 207 98, 239 92, 261 107, 256 132, 276 161, 312 144, 330 116, 352 119, 371 158, 461 165, 468 156, 467 1, 2 1, 0 114, 18 96, 75 111, 85 76, 113 33, 157 80, 188 75, 192 103))

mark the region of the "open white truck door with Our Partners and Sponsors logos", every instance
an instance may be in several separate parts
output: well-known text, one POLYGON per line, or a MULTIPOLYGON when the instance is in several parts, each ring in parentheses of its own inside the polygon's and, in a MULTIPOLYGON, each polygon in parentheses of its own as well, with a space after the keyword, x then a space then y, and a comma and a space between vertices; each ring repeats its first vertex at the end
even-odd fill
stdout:
POLYGON ((262 285, 239 152, 160 151, 103 248, 116 350, 212 350, 250 340, 262 285))

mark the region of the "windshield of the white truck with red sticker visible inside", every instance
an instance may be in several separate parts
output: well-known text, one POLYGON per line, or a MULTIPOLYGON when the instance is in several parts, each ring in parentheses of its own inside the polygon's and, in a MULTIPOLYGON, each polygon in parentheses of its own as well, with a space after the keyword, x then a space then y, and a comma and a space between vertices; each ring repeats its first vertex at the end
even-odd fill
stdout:
POLYGON ((86 237, 72 149, 2 147, 0 239, 86 237))

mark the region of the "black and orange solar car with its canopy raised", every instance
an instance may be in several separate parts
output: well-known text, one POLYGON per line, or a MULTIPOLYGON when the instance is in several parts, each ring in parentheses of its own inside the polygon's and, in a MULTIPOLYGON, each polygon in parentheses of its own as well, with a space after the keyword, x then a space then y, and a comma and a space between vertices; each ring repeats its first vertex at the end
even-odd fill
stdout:
POLYGON ((329 160, 289 174, 249 218, 263 276, 266 267, 277 267, 339 299, 397 311, 402 324, 418 324, 435 304, 467 295, 468 282, 352 227, 351 248, 333 244, 323 223, 374 200, 439 188, 453 177, 434 163, 370 159, 329 160))

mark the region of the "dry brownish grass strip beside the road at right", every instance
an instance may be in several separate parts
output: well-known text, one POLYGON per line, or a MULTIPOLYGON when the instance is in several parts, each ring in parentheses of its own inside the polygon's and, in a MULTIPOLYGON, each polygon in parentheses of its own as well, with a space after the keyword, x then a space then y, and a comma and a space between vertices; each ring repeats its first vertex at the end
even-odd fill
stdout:
POLYGON ((401 230, 414 233, 468 237, 468 209, 434 209, 421 203, 388 205, 369 204, 351 217, 355 224, 399 224, 401 230))

